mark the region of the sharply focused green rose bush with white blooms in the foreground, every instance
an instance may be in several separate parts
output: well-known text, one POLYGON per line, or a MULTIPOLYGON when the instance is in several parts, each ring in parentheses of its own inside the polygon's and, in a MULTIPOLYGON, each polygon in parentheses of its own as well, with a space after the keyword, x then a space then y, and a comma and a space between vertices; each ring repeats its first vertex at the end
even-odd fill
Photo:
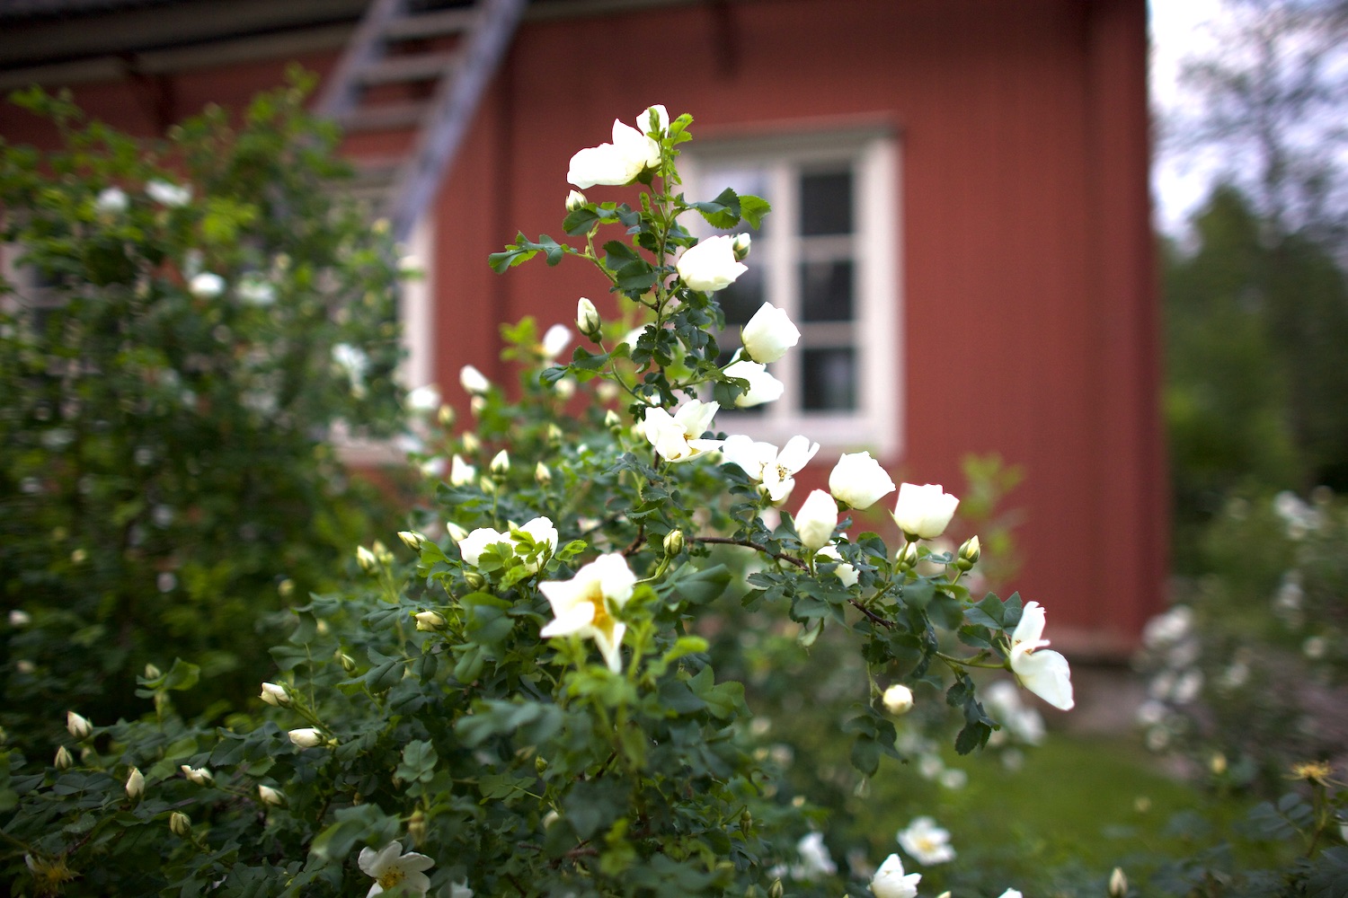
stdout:
MULTIPOLYGON (((820 812, 787 800, 756 751, 744 687, 709 641, 736 571, 743 609, 789 618, 806 646, 826 629, 853 646, 867 676, 842 730, 863 777, 905 755, 894 715, 915 696, 945 692, 968 754, 999 727, 972 670, 1070 707, 1066 665, 1042 652, 1034 603, 971 595, 976 539, 929 543, 956 497, 899 487, 907 533, 890 545, 849 517, 895 493, 879 464, 838 459, 830 491, 802 501, 794 477, 818 454, 807 435, 778 450, 716 431, 720 408, 771 378, 733 366, 780 358, 795 329, 770 310, 720 364, 716 291, 752 264, 749 242, 700 244, 685 219, 733 230, 768 203, 679 193, 690 123, 658 106, 636 128, 615 123, 569 178, 640 183, 640 202, 573 191, 563 230, 577 245, 520 234, 492 256, 497 271, 584 261, 623 312, 604 322, 581 300, 585 345, 568 361, 555 329, 506 329, 522 384, 465 369, 473 425, 458 436, 418 401, 418 460, 448 481, 399 534, 410 560, 361 547, 356 582, 295 610, 259 716, 183 722, 170 693, 189 677, 151 670, 140 685, 156 715, 71 719, 50 765, 11 751, 5 872, 70 894, 911 891, 902 862, 841 867, 820 812), (590 382, 599 401, 577 412, 590 382)), ((931 820, 902 847, 913 863, 954 856, 931 820)))

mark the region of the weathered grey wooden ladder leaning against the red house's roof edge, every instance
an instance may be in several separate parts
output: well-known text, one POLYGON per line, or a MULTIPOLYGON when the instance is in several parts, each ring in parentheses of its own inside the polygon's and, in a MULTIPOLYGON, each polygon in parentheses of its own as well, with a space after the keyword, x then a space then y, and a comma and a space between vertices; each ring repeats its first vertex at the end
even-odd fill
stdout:
POLYGON ((353 193, 398 240, 434 201, 527 3, 373 0, 329 75, 315 112, 349 141, 383 141, 355 153, 353 193))

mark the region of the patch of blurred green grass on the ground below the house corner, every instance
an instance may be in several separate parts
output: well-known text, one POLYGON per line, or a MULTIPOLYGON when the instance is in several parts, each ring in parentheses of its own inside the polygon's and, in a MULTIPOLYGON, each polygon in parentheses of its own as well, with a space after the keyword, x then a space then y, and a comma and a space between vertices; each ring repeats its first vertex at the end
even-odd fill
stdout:
POLYGON ((918 815, 950 831, 960 852, 953 863, 925 868, 905 858, 923 874, 923 894, 993 897, 1016 887, 1035 897, 1103 895, 1116 866, 1142 885, 1159 862, 1231 839, 1231 824, 1252 804, 1165 775, 1128 736, 1050 735, 1015 771, 992 757, 950 755, 946 763, 969 774, 965 788, 942 789, 911 766, 884 765, 871 794, 847 809, 874 862, 896 850, 894 833, 918 815))

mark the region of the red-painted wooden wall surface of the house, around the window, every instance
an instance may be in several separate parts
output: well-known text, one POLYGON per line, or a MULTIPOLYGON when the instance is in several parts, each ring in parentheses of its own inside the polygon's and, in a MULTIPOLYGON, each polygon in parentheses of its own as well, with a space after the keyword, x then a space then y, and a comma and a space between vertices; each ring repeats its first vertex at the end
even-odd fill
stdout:
MULTIPOLYGON (((194 73, 170 96, 181 113, 241 102, 280 71, 194 73)), ((77 96, 155 127, 127 85, 77 96)), ((555 234, 570 155, 652 102, 693 113, 694 136, 895 124, 907 420, 886 460, 946 485, 968 452, 1023 466, 1016 586, 1058 644, 1130 645, 1166 571, 1144 0, 740 0, 524 24, 437 201, 446 393, 468 362, 504 374, 497 322, 569 322, 605 295, 578 264, 496 276, 485 258, 516 230, 555 234), (678 57, 643 55, 669 40, 678 57)))

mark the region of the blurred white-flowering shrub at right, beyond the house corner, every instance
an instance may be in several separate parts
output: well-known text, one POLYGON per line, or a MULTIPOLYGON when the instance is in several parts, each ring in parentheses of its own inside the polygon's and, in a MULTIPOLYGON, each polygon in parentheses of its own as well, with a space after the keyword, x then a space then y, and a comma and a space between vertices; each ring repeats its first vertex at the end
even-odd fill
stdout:
POLYGON ((1275 793, 1348 762, 1348 504, 1325 490, 1228 502, 1204 565, 1144 633, 1147 745, 1224 786, 1275 793), (1206 775, 1206 774, 1205 774, 1206 775))

